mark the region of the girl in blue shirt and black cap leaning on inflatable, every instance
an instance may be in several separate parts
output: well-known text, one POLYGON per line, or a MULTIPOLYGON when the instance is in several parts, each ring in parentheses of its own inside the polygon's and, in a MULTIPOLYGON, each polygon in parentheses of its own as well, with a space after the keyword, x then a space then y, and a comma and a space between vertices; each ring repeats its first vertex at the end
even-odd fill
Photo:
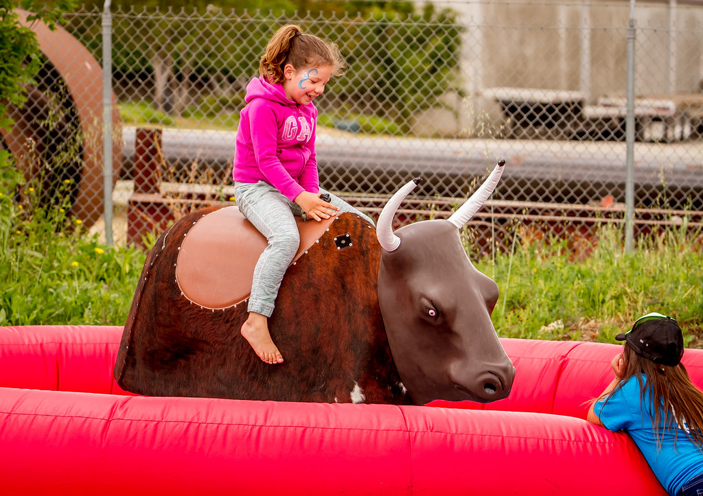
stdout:
POLYGON ((588 421, 624 429, 670 495, 703 495, 703 393, 681 364, 681 327, 648 313, 616 339, 625 344, 611 363, 615 377, 588 421))

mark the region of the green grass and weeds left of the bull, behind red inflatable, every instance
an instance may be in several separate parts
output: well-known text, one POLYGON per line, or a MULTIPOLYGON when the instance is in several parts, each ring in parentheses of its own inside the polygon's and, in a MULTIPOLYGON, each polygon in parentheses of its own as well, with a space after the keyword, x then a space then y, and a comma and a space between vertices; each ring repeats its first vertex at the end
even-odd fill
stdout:
POLYGON ((145 255, 101 246, 65 202, 39 206, 11 167, 0 184, 0 325, 124 324, 145 255))

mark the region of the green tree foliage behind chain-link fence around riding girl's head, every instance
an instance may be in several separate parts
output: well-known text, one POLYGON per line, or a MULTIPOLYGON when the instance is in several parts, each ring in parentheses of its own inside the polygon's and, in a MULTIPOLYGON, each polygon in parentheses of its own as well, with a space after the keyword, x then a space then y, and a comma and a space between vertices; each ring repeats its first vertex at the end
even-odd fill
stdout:
MULTIPOLYGON (((115 75, 143 81, 140 93, 127 99, 143 97, 148 89, 157 110, 176 115, 186 105, 197 105, 198 98, 238 107, 271 34, 287 22, 334 41, 347 57, 349 72, 330 83, 325 103, 334 108, 326 111, 354 101, 368 115, 409 122, 415 112, 460 86, 462 27, 456 13, 431 3, 421 9, 412 2, 372 1, 112 3, 115 75), (208 88, 209 94, 194 96, 191 87, 208 88)), ((100 26, 82 22, 76 19, 70 30, 99 59, 100 26)))

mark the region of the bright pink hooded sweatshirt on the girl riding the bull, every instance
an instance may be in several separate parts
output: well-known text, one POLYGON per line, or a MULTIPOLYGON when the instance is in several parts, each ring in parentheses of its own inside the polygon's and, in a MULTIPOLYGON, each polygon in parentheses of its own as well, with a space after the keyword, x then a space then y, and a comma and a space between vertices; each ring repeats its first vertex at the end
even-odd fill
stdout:
POLYGON ((315 105, 298 105, 281 84, 264 77, 247 85, 240 113, 232 177, 240 183, 266 181, 289 200, 303 191, 318 193, 315 105))

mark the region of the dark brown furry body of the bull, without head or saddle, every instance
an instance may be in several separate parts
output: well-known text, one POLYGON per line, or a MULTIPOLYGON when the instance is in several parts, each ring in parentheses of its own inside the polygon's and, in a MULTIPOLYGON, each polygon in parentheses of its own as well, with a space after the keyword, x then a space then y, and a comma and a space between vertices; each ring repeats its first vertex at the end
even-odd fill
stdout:
POLYGON ((290 266, 269 319, 287 359, 272 366, 240 335, 245 304, 213 312, 192 304, 174 283, 183 235, 212 210, 181 219, 150 252, 117 355, 120 386, 150 396, 317 402, 349 402, 363 391, 368 403, 410 402, 384 332, 381 250, 366 221, 341 215, 290 266), (334 237, 347 233, 353 246, 337 249, 334 237))

